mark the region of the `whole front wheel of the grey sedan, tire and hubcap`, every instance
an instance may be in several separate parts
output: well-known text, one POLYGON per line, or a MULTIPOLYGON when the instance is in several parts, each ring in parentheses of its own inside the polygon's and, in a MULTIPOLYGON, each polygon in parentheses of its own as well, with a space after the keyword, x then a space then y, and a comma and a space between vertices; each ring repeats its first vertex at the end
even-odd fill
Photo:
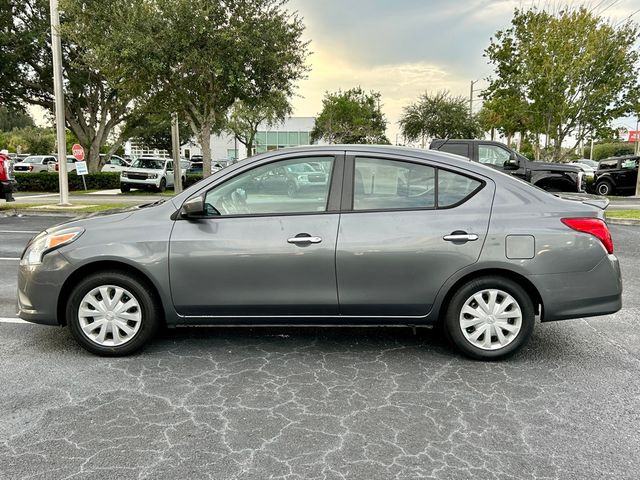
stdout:
POLYGON ((116 271, 82 279, 71 292, 66 319, 78 343, 103 356, 139 350, 161 323, 149 286, 116 271))

